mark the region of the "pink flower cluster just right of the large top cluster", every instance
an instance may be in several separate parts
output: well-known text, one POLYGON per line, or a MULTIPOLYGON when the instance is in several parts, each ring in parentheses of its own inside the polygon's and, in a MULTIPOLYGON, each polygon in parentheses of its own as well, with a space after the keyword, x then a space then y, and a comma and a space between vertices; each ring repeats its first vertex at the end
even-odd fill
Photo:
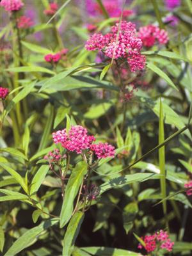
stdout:
POLYGON ((152 47, 156 41, 159 44, 166 44, 169 40, 168 33, 154 25, 141 27, 138 36, 140 36, 143 45, 147 47, 152 47))

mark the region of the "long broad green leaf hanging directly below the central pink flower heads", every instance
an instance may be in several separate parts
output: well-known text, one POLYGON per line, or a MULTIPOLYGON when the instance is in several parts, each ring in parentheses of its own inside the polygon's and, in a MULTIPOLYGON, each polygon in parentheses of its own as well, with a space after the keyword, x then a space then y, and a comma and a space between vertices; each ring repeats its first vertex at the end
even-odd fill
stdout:
POLYGON ((74 209, 74 199, 76 198, 77 192, 83 182, 83 177, 86 172, 87 164, 83 161, 77 163, 74 170, 72 170, 65 190, 65 198, 63 200, 61 209, 60 228, 64 227, 71 218, 72 211, 74 209))

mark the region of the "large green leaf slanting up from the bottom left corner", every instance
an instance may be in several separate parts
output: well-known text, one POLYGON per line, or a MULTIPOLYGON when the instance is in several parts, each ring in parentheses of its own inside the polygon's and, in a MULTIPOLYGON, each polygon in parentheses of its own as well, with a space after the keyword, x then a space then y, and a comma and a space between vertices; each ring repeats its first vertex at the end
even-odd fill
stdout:
POLYGON ((28 248, 31 244, 36 242, 36 239, 44 230, 47 230, 47 228, 55 225, 56 223, 58 223, 58 219, 46 220, 37 227, 29 229, 12 244, 4 256, 15 256, 25 248, 28 248))

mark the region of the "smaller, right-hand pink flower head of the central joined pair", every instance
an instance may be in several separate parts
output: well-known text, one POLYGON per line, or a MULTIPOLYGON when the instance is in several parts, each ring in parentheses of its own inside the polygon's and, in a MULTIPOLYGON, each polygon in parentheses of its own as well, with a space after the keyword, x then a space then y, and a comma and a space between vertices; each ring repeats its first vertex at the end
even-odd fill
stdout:
POLYGON ((95 155, 100 158, 114 157, 115 156, 115 147, 108 143, 98 143, 92 144, 90 149, 95 153, 95 155))

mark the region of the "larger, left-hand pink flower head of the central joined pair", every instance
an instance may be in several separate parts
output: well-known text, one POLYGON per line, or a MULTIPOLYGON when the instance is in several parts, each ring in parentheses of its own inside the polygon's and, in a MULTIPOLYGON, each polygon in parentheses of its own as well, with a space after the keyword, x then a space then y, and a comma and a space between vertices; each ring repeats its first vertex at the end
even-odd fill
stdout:
POLYGON ((90 148, 90 145, 95 141, 94 136, 88 135, 86 128, 81 125, 74 125, 67 131, 66 129, 54 132, 52 134, 54 143, 61 143, 63 148, 69 151, 76 151, 81 154, 82 150, 90 148))

